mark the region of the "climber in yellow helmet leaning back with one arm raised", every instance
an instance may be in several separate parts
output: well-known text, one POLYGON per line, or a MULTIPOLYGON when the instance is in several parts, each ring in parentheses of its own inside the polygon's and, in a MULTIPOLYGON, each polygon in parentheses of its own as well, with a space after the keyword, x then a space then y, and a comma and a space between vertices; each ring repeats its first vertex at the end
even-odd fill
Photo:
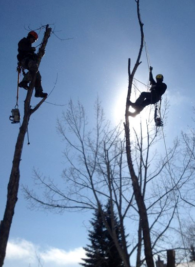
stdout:
POLYGON ((150 92, 142 92, 140 94, 140 97, 135 101, 135 103, 132 103, 129 100, 129 105, 131 105, 135 112, 128 113, 128 116, 135 117, 138 115, 145 106, 148 106, 150 104, 155 104, 161 100, 162 95, 165 93, 167 89, 167 85, 163 83, 163 75, 158 74, 156 77, 157 82, 154 81, 152 76, 152 67, 150 67, 150 74, 149 74, 149 80, 151 84, 150 92))

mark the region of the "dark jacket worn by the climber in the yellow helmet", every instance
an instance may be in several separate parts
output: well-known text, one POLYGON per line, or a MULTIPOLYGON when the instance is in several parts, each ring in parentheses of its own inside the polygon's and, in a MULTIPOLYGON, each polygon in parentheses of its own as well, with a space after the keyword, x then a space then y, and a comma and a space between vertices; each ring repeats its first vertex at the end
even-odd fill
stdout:
POLYGON ((150 83, 152 85, 151 87, 151 94, 152 94, 152 99, 159 101, 162 97, 162 95, 165 93, 167 89, 167 85, 163 82, 155 82, 152 73, 150 73, 150 83))

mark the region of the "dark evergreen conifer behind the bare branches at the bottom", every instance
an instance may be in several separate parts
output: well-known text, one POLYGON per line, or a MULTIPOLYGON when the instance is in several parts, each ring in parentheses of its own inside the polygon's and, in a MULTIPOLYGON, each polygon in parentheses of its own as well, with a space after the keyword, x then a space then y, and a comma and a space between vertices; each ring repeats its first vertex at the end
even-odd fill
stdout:
MULTIPOLYGON (((110 202, 108 202, 106 206, 105 214, 106 221, 111 227, 110 202)), ((114 218, 114 221, 116 235, 122 246, 120 226, 116 217, 114 218)), ((89 231, 89 240, 91 244, 84 247, 87 258, 83 259, 85 263, 80 264, 84 267, 124 267, 123 261, 116 249, 114 241, 108 233, 99 211, 95 211, 91 225, 93 226, 93 230, 89 231)))

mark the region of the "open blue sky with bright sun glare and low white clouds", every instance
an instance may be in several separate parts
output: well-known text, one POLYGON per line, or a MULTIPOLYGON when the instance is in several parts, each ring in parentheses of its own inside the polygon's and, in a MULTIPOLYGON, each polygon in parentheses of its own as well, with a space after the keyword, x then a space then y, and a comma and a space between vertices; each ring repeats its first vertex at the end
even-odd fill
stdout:
MULTIPOLYGON (((192 124, 194 106, 194 12, 193 0, 140 0, 142 21, 153 73, 162 73, 170 102, 164 131, 167 142, 192 124), (171 135, 169 133, 171 132, 171 135)), ((50 24, 51 35, 40 72, 44 92, 50 92, 30 119, 30 146, 25 140, 20 184, 33 187, 33 167, 60 181, 64 160, 56 119, 70 98, 80 100, 92 122, 93 104, 100 97, 106 117, 114 124, 123 119, 128 87, 127 65, 132 65, 140 47, 140 29, 133 0, 34 0, 1 1, 1 186, 0 216, 3 218, 7 184, 19 124, 9 121, 16 104, 17 43, 28 27, 50 24)), ((44 31, 35 45, 40 44, 44 31)), ((145 53, 135 78, 147 83, 145 53)), ((139 85, 140 90, 145 90, 139 85)), ((19 91, 19 110, 23 116, 26 91, 19 91)), ((32 97, 32 106, 38 99, 32 97)), ((131 119, 136 123, 139 118, 131 119)), ((88 242, 90 213, 62 215, 31 211, 19 190, 5 267, 37 266, 36 254, 47 267, 77 267, 88 242), (60 261, 59 261, 60 259, 60 261), (30 264, 30 265, 29 265, 30 264)))

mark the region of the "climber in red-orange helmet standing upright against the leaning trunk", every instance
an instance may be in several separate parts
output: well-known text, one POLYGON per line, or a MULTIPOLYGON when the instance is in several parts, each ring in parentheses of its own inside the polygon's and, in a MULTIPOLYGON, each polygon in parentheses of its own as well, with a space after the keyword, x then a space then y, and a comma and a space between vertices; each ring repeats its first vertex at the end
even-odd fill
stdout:
POLYGON ((18 43, 18 54, 17 60, 19 65, 28 72, 24 75, 22 82, 18 84, 19 87, 23 87, 28 90, 28 83, 32 81, 33 76, 36 74, 35 80, 35 98, 45 98, 47 93, 43 92, 41 85, 41 74, 38 71, 38 65, 36 64, 37 54, 34 52, 35 47, 32 47, 32 43, 36 42, 38 39, 38 34, 35 31, 30 31, 27 37, 24 37, 18 43))

